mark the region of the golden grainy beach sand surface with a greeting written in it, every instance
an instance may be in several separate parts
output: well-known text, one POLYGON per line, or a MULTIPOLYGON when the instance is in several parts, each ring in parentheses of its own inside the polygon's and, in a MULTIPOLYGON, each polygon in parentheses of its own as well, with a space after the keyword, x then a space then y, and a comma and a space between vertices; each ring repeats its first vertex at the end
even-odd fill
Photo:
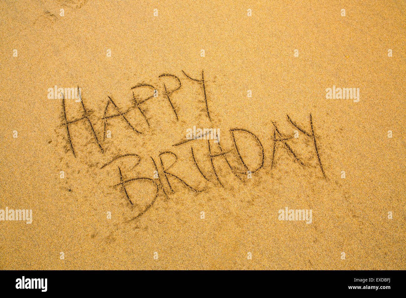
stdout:
POLYGON ((0 1, 0 268, 405 269, 405 11, 0 1))

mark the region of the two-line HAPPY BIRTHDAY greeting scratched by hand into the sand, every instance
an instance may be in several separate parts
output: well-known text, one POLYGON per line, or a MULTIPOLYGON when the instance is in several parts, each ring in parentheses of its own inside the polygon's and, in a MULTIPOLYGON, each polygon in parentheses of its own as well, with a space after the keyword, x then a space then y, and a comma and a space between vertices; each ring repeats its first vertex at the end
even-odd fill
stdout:
MULTIPOLYGON (((67 150, 71 151, 73 157, 76 158, 78 145, 74 135, 72 135, 73 126, 76 131, 79 127, 86 130, 85 133, 80 134, 80 137, 84 135, 89 136, 91 140, 87 142, 88 144, 93 144, 93 148, 102 154, 109 152, 108 154, 110 156, 111 152, 108 150, 110 148, 106 148, 105 136, 106 133, 109 132, 106 130, 107 124, 111 125, 112 120, 119 120, 121 125, 125 125, 129 132, 134 133, 135 137, 149 131, 151 124, 149 122, 150 118, 147 117, 147 115, 150 116, 154 114, 152 107, 154 107, 154 105, 156 107, 157 105, 157 101, 154 99, 158 96, 159 90, 159 96, 162 96, 164 102, 167 103, 166 109, 169 109, 168 118, 165 120, 171 121, 170 118, 172 117, 172 121, 178 122, 183 120, 179 119, 183 116, 179 114, 180 103, 178 102, 178 99, 182 97, 176 96, 176 94, 182 90, 182 81, 186 80, 188 84, 196 84, 196 87, 200 88, 203 102, 201 109, 203 114, 200 117, 205 118, 203 120, 207 120, 211 124, 211 127, 199 129, 193 126, 193 129, 189 128, 186 130, 186 138, 181 138, 181 141, 171 145, 174 150, 180 147, 183 149, 182 152, 186 152, 187 156, 184 157, 183 160, 188 159, 188 161, 190 161, 189 164, 193 165, 192 167, 189 166, 187 169, 175 171, 174 168, 179 168, 175 167, 179 164, 179 159, 175 152, 168 150, 168 148, 162 148, 158 157, 140 155, 138 154, 140 152, 126 152, 120 155, 114 154, 113 152, 114 155, 112 156, 114 157, 100 167, 100 169, 104 169, 105 167, 112 168, 113 165, 119 161, 131 162, 130 165, 132 165, 132 167, 130 167, 131 170, 128 171, 123 171, 116 165, 117 176, 112 178, 112 180, 116 179, 117 181, 113 186, 118 188, 118 193, 121 194, 120 199, 125 200, 131 210, 134 210, 134 208, 137 210, 129 221, 143 216, 145 212, 152 208, 158 198, 163 197, 164 200, 169 199, 179 191, 179 187, 200 193, 212 186, 225 188, 227 182, 231 182, 231 179, 235 182, 245 183, 247 179, 252 178, 253 174, 261 171, 261 169, 265 167, 265 164, 266 167, 270 167, 270 170, 274 170, 277 166, 277 159, 280 159, 283 155, 291 159, 298 167, 307 170, 316 170, 321 174, 320 178, 326 179, 326 173, 320 156, 319 141, 315 134, 315 125, 311 114, 307 128, 297 124, 287 115, 286 120, 292 128, 290 132, 282 131, 282 129, 272 121, 271 131, 266 131, 266 135, 272 141, 272 147, 269 148, 270 154, 267 154, 269 162, 265 163, 265 150, 268 148, 264 148, 259 137, 246 128, 230 128, 228 131, 228 144, 231 144, 231 146, 229 148, 225 147, 223 141, 227 138, 227 134, 223 133, 220 141, 218 137, 219 129, 213 128, 211 109, 209 109, 209 107, 212 106, 212 101, 207 96, 207 81, 205 80, 204 72, 202 71, 201 76, 197 78, 191 77, 183 70, 182 73, 184 75, 182 79, 168 73, 158 76, 158 79, 165 78, 166 82, 170 79, 174 84, 173 88, 170 88, 170 86, 167 86, 165 83, 162 84, 161 88, 151 84, 136 84, 131 88, 132 98, 128 99, 126 108, 117 105, 111 96, 106 96, 107 101, 104 112, 102 116, 98 118, 98 120, 104 124, 103 132, 97 132, 97 130, 95 130, 97 126, 95 126, 95 116, 92 115, 94 111, 90 113, 89 109, 86 109, 83 99, 79 104, 80 110, 78 111, 76 109, 78 115, 68 120, 66 116, 64 93, 61 94, 61 128, 65 130, 67 150), (108 111, 108 107, 112 107, 114 112, 111 112, 111 109, 108 111), (139 117, 143 125, 141 126, 139 120, 134 121, 134 117, 139 117), (144 127, 144 129, 142 127, 144 127), (302 135, 301 138, 298 138, 299 133, 302 135), (205 141, 201 141, 202 139, 205 141), (250 142, 247 143, 247 140, 250 142), (297 148, 296 146, 299 142, 302 148, 310 147, 309 150, 306 150, 305 154, 309 155, 309 152, 314 152, 314 154, 310 157, 302 156, 303 153, 294 149, 297 148), (139 174, 140 165, 144 166, 144 174, 139 174), (148 170, 146 168, 148 168, 148 170), (191 177, 199 179, 199 182, 194 182, 195 184, 192 183, 188 180, 191 177), (133 187, 134 184, 139 187, 133 187), (142 202, 144 203, 138 204, 138 200, 136 199, 137 194, 131 190, 145 189, 146 184, 150 184, 151 186, 150 199, 148 199, 147 203, 143 200, 142 202), (201 187, 202 184, 203 187, 201 187)), ((162 104, 162 101, 160 104, 162 104)), ((160 108, 162 107, 160 106, 160 108)), ((76 136, 78 137, 77 134, 76 136)), ((180 165, 182 166, 183 164, 180 165)), ((287 213, 288 211, 283 215, 283 218, 286 217, 287 220, 291 220, 292 217, 287 213)), ((299 216, 299 214, 297 214, 297 216, 299 216)), ((310 213, 306 211, 300 218, 306 218, 307 223, 311 223, 311 210, 310 213)))

